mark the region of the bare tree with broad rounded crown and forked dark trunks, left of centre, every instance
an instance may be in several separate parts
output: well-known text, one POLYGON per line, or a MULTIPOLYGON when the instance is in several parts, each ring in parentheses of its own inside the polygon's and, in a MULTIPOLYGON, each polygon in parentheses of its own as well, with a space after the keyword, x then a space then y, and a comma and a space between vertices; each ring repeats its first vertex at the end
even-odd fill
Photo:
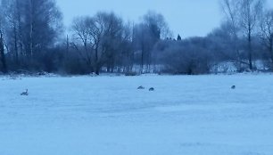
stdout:
POLYGON ((92 64, 95 74, 98 75, 105 64, 108 71, 113 70, 120 52, 123 26, 122 19, 113 12, 98 12, 94 17, 74 20, 72 29, 84 46, 83 56, 92 64))

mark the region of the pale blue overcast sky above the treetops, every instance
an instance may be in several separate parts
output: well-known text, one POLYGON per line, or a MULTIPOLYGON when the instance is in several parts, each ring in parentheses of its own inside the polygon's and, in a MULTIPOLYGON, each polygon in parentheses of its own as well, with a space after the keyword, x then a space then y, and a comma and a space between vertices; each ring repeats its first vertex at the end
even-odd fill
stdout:
MULTIPOLYGON (((113 11, 124 20, 139 21, 149 10, 161 12, 174 35, 206 36, 220 24, 219 0, 56 0, 69 26, 79 15, 113 11)), ((269 0, 273 4, 273 0, 269 0)))

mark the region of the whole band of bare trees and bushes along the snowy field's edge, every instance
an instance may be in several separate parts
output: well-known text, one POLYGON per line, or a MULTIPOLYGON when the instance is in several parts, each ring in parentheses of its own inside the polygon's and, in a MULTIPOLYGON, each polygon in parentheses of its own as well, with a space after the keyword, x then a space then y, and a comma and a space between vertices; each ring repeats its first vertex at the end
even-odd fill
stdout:
MULTIPOLYGON (((137 23, 114 12, 76 17, 68 35, 54 0, 1 0, 0 71, 127 75, 273 69, 273 10, 265 0, 220 0, 206 37, 174 38, 161 13, 137 23)), ((179 19, 178 19, 179 20, 179 19)), ((183 31, 183 29, 181 29, 183 31)))

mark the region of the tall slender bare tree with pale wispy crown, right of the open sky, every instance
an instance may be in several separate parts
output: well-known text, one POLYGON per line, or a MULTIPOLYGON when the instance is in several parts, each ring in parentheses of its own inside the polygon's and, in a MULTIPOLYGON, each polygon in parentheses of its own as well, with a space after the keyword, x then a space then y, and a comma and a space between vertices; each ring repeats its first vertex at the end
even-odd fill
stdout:
POLYGON ((234 39, 233 45, 239 63, 244 62, 240 59, 240 53, 236 45, 239 33, 246 38, 249 69, 253 68, 252 37, 256 33, 263 5, 264 0, 221 0, 221 6, 226 14, 227 21, 230 23, 234 39))

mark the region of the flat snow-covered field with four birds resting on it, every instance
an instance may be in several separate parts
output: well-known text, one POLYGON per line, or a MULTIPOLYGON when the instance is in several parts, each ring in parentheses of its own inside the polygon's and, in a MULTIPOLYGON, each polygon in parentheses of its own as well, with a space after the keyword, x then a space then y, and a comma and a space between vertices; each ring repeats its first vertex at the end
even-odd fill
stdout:
POLYGON ((0 77, 0 155, 272 154, 272 75, 0 77))

